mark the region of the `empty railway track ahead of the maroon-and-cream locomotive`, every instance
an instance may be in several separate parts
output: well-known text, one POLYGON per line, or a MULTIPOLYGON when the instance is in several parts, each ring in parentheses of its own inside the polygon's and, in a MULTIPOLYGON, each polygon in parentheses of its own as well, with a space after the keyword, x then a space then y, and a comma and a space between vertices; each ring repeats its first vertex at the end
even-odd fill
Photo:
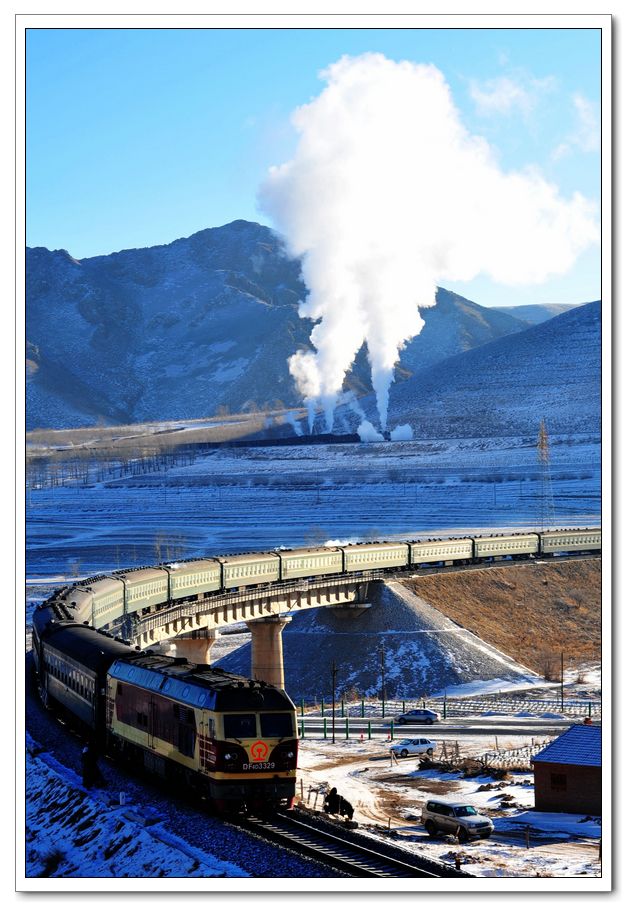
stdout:
POLYGON ((352 878, 472 878, 466 872, 434 860, 408 854, 405 861, 401 855, 396 857, 373 850, 356 839, 351 840, 348 834, 335 833, 333 827, 323 829, 300 816, 249 817, 240 826, 352 878))

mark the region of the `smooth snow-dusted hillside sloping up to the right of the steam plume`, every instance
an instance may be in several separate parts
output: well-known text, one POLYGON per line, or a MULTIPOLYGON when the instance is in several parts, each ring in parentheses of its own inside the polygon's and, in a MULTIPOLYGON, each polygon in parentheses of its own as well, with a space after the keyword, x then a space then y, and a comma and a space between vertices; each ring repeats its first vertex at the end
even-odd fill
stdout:
MULTIPOLYGON (((373 414, 373 401, 362 400, 373 414)), ((601 303, 441 361, 391 388, 390 427, 417 437, 596 433, 601 415, 601 303)))

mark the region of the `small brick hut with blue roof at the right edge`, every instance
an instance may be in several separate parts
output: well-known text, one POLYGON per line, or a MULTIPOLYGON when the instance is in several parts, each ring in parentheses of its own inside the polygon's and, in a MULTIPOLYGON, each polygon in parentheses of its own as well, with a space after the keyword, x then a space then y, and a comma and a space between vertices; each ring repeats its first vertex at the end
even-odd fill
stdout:
POLYGON ((572 725, 532 763, 538 811, 601 814, 600 725, 572 725))

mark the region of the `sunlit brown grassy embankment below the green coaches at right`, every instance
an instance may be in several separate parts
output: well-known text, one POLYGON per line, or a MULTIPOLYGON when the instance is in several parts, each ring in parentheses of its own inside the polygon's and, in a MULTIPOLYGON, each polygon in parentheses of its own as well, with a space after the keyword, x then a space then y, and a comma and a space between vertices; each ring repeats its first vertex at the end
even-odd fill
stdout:
POLYGON ((418 597, 549 678, 601 659, 601 560, 421 576, 418 597))

